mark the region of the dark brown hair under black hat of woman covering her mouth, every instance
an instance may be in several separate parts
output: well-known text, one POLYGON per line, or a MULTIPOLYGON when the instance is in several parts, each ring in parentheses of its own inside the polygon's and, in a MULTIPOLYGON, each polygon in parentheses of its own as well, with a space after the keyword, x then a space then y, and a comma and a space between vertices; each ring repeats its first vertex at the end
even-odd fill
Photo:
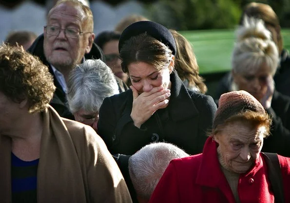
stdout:
POLYGON ((126 40, 120 50, 121 66, 126 74, 128 74, 128 65, 134 62, 151 64, 157 70, 167 68, 171 56, 172 51, 165 44, 146 33, 126 40))

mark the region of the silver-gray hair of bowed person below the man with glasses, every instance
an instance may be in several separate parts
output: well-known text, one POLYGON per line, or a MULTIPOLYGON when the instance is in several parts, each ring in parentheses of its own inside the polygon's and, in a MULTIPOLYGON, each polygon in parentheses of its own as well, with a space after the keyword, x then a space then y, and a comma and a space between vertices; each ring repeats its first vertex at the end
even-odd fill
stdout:
POLYGON ((70 111, 97 112, 103 100, 119 93, 115 75, 100 59, 89 59, 74 68, 68 79, 70 111))

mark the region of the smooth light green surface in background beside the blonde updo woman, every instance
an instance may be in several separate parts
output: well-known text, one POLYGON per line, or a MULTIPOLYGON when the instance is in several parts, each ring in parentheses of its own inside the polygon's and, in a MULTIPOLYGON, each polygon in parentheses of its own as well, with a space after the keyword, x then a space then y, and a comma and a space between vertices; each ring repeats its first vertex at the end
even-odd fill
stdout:
MULTIPOLYGON (((231 70, 233 30, 182 31, 180 33, 192 43, 201 74, 231 70)), ((282 36, 284 47, 290 50, 290 29, 283 29, 282 36)))

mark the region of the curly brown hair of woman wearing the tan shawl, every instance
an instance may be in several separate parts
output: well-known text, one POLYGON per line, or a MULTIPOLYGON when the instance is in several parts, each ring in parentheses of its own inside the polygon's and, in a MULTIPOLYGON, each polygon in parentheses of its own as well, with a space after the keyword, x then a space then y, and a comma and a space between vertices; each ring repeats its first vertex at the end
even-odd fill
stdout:
POLYGON ((53 76, 22 47, 0 46, 0 91, 14 102, 28 100, 29 112, 44 111, 53 97, 53 76))

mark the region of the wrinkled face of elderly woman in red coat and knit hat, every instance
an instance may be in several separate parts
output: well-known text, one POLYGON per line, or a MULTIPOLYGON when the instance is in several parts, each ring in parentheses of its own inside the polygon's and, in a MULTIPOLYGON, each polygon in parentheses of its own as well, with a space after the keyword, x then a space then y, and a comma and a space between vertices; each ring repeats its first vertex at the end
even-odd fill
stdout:
POLYGON ((265 130, 263 126, 252 128, 242 121, 228 124, 214 136, 220 164, 235 173, 247 172, 259 156, 265 130))

